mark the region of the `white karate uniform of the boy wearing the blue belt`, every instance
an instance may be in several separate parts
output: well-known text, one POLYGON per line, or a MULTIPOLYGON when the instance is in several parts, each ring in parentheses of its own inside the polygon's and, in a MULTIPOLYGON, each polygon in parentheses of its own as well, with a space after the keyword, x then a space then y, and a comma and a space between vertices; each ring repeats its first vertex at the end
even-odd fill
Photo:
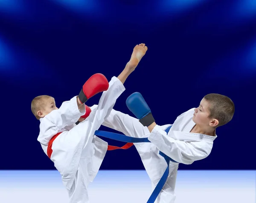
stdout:
MULTIPOLYGON (((189 133, 195 126, 192 121, 195 108, 177 117, 166 135, 164 131, 168 125, 155 126, 151 133, 137 118, 112 110, 102 125, 124 133, 130 137, 145 138, 151 143, 134 143, 140 154, 143 165, 152 182, 152 191, 166 170, 165 159, 159 155, 163 152, 173 160, 182 164, 192 164, 194 161, 206 158, 211 150, 213 141, 217 137, 198 133, 189 133)), ((175 182, 178 163, 170 161, 169 176, 155 203, 174 203, 175 182)), ((145 200, 146 202, 146 200, 145 200)))

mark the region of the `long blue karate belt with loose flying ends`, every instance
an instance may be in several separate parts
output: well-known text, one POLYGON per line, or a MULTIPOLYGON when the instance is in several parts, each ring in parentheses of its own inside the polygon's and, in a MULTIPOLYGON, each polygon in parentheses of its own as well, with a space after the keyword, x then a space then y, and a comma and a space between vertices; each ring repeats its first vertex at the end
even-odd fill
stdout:
MULTIPOLYGON (((169 133, 169 130, 171 129, 171 127, 172 126, 169 126, 169 127, 166 128, 165 132, 167 134, 169 133)), ((132 138, 132 137, 128 137, 128 136, 125 136, 125 135, 122 135, 122 134, 110 133, 110 132, 102 131, 102 130, 96 130, 94 135, 101 136, 101 137, 104 137, 104 138, 110 138, 112 140, 128 142, 128 143, 150 142, 148 140, 148 138, 132 138)), ((178 163, 177 161, 174 161, 172 158, 170 158, 169 156, 165 155, 161 151, 159 152, 159 154, 161 156, 163 156, 163 158, 165 159, 166 164, 167 164, 167 168, 166 168, 165 172, 163 173, 162 178, 157 183, 157 186, 155 187, 154 191, 152 192, 151 196, 149 197, 147 203, 154 203, 155 202, 155 200, 157 199, 157 196, 159 195, 160 191, 162 190, 164 184, 166 183, 166 180, 167 180, 168 175, 169 175, 169 164, 170 164, 170 161, 178 163)))

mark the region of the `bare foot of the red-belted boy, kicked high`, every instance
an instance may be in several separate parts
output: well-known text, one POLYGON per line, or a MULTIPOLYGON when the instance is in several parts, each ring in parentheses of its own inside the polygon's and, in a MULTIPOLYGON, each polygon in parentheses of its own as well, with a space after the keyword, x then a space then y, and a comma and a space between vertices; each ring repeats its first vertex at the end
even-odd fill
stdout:
POLYGON ((145 44, 139 44, 134 47, 133 53, 131 54, 131 59, 127 63, 127 68, 133 71, 139 64, 142 57, 146 54, 148 47, 145 44))

